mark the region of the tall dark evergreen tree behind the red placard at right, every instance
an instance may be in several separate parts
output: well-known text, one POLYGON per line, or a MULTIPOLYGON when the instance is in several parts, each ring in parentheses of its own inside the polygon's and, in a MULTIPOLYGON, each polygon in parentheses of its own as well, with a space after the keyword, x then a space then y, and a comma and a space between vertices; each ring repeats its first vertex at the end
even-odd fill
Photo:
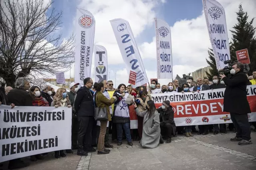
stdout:
POLYGON ((230 45, 231 59, 237 60, 236 51, 241 49, 248 49, 250 57, 250 72, 256 69, 256 28, 252 25, 254 18, 248 21, 248 14, 244 12, 242 5, 239 5, 239 11, 236 12, 237 24, 233 27, 232 32, 232 43, 230 45))

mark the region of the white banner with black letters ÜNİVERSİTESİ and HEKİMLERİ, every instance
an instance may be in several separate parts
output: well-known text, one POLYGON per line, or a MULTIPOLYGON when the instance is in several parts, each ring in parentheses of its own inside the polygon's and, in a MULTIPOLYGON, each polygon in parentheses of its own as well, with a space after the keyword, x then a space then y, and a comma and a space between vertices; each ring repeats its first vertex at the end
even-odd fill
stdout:
POLYGON ((0 105, 0 162, 71 149, 68 107, 0 105))

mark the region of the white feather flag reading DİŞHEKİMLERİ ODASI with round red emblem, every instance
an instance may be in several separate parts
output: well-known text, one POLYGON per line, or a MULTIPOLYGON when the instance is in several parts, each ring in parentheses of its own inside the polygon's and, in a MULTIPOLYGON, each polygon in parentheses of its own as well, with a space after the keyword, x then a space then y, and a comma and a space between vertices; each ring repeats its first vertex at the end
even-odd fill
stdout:
POLYGON ((95 19, 87 10, 77 8, 75 82, 83 85, 86 77, 91 77, 91 64, 95 33, 95 19))

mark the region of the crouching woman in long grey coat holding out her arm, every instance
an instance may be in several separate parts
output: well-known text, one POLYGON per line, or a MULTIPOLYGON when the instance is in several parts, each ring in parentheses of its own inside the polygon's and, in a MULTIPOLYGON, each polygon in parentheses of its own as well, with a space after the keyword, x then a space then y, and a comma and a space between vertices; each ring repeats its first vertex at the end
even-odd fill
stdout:
POLYGON ((138 116, 143 118, 143 132, 141 138, 141 146, 143 148, 156 148, 160 139, 160 123, 159 113, 155 108, 154 101, 147 101, 147 110, 140 112, 137 105, 134 103, 135 111, 138 116))

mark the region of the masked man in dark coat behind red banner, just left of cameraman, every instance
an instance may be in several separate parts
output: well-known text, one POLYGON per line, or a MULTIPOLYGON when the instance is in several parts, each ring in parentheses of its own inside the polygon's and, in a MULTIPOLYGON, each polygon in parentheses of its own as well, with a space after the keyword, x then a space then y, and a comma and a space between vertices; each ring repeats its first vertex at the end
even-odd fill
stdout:
MULTIPOLYGON (((219 77, 217 75, 214 75, 214 77, 212 77, 212 81, 213 81, 213 84, 210 85, 210 89, 214 90, 214 89, 226 88, 225 84, 220 83, 220 79, 219 79, 219 77)), ((219 129, 218 124, 214 124, 214 134, 218 134, 219 131, 221 133, 227 133, 227 131, 226 131, 226 123, 220 124, 220 129, 219 129)))

